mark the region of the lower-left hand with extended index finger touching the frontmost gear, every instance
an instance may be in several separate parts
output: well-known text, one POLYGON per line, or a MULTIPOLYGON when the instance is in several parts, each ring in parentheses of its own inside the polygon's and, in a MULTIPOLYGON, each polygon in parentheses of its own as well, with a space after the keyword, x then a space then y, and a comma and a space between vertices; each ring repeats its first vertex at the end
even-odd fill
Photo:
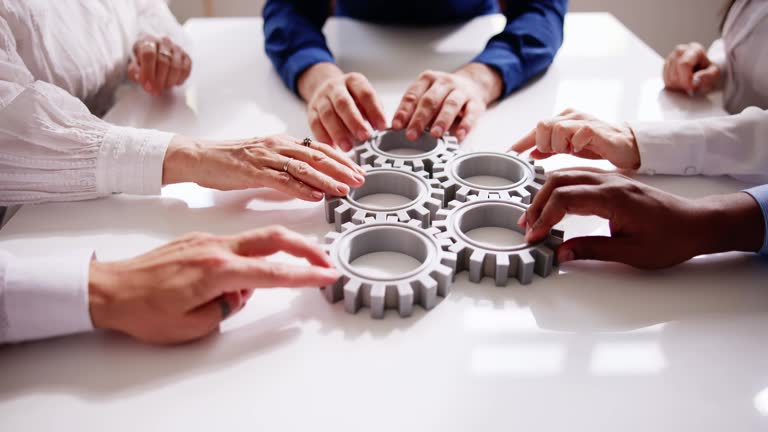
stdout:
POLYGON ((338 278, 321 248, 273 226, 236 236, 188 234, 136 258, 94 261, 88 296, 94 327, 174 344, 214 332, 253 289, 314 288, 338 278), (280 251, 310 265, 264 259, 280 251))

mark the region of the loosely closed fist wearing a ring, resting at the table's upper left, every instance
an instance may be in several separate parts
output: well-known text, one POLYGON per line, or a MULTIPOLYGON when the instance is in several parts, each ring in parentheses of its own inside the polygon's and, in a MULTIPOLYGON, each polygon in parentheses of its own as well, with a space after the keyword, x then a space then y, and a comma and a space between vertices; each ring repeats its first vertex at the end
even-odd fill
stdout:
POLYGON ((133 44, 128 79, 147 93, 159 96, 173 86, 182 85, 191 71, 189 55, 167 37, 142 36, 133 44))

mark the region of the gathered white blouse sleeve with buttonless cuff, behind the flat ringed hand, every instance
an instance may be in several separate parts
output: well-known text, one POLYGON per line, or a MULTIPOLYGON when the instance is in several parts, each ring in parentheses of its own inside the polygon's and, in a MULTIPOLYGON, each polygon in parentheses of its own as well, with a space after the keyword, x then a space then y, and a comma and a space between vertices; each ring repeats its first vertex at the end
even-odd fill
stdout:
POLYGON ((157 194, 172 137, 106 123, 36 81, 0 17, 0 206, 157 194))

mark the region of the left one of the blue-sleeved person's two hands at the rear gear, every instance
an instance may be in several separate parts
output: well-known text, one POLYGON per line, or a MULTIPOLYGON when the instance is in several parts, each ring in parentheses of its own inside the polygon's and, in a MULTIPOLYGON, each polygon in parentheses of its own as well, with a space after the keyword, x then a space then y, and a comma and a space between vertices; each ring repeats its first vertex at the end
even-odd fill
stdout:
POLYGON ((312 133, 322 142, 348 151, 354 141, 370 138, 366 122, 387 128, 379 97, 359 73, 345 74, 332 63, 318 63, 301 74, 297 85, 307 101, 312 133))

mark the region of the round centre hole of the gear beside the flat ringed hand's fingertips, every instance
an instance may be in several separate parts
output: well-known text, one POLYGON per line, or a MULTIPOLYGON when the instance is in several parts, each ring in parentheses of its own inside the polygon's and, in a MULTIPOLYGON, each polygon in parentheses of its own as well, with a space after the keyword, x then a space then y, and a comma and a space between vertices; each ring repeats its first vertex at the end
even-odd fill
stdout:
POLYGON ((367 207, 396 209, 407 207, 424 193, 424 185, 413 176, 392 172, 372 171, 365 184, 353 189, 347 197, 367 207))

